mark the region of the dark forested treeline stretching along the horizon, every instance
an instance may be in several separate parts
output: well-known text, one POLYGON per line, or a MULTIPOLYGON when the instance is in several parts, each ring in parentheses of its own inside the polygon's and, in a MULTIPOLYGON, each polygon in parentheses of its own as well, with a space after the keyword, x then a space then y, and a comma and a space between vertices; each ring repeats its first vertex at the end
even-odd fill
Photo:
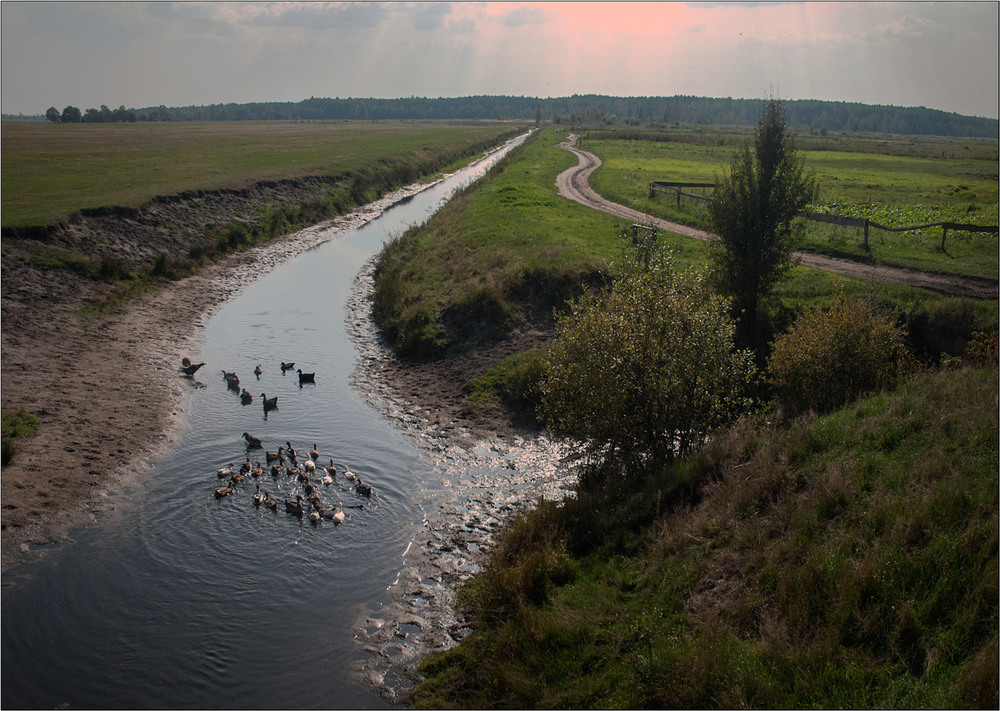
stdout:
MULTIPOLYGON (((646 126, 753 126, 760 117, 761 99, 713 99, 698 96, 615 97, 596 94, 539 99, 526 96, 465 96, 429 99, 317 99, 299 102, 212 104, 124 109, 125 120, 137 121, 373 121, 514 119, 558 123, 604 123, 646 126)), ((997 119, 962 116, 925 107, 881 106, 843 101, 783 102, 788 126, 794 130, 898 133, 935 136, 997 138, 997 119)), ((81 116, 74 107, 49 109, 47 118, 65 121, 81 116)), ((14 118, 14 117, 5 117, 14 118)), ((21 117, 24 118, 24 117, 21 117)), ((115 120, 87 109, 82 120, 115 120)), ((119 119, 120 120, 120 119, 119 119)))

